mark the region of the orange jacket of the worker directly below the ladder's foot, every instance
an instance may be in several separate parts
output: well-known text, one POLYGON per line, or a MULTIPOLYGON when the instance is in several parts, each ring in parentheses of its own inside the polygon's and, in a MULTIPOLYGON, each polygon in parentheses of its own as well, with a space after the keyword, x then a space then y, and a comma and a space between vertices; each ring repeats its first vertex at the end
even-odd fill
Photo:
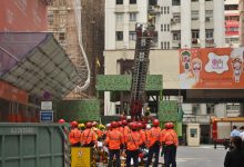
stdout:
POLYGON ((136 150, 142 144, 142 137, 138 131, 131 131, 124 137, 128 150, 136 150))

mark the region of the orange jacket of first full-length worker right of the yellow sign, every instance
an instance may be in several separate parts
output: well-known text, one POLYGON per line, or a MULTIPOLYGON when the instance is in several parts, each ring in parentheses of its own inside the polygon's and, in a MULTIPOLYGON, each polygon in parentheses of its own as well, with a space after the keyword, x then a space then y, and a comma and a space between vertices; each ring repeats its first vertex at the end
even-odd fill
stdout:
POLYGON ((116 129, 113 129, 106 134, 105 143, 110 149, 120 149, 120 145, 124 144, 123 135, 116 129))

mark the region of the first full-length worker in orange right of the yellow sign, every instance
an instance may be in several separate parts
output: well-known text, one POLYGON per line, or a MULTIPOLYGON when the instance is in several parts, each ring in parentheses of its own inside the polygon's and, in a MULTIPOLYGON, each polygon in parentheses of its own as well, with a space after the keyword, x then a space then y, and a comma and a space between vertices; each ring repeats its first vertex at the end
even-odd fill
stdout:
POLYGON ((109 146, 109 165, 112 167, 113 157, 116 158, 116 167, 121 166, 120 161, 120 147, 124 144, 123 135, 118 130, 118 124, 115 121, 111 122, 112 131, 106 134, 105 145, 109 146))

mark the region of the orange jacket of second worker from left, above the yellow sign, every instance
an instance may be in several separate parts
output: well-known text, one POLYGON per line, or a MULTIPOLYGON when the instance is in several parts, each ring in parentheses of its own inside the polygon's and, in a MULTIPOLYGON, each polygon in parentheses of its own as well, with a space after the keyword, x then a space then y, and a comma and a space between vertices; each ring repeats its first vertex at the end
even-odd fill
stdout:
POLYGON ((91 144, 92 141, 96 145, 96 141, 98 141, 96 134, 92 129, 85 129, 81 134, 81 144, 88 145, 88 144, 91 144))

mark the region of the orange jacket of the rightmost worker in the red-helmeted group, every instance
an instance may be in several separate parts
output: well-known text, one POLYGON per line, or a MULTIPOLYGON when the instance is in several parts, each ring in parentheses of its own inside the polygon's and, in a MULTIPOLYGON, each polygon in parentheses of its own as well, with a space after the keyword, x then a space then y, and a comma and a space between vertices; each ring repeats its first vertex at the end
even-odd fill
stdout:
POLYGON ((165 135, 163 136, 162 143, 164 143, 165 145, 179 145, 177 134, 174 131, 174 129, 165 130, 165 135))

